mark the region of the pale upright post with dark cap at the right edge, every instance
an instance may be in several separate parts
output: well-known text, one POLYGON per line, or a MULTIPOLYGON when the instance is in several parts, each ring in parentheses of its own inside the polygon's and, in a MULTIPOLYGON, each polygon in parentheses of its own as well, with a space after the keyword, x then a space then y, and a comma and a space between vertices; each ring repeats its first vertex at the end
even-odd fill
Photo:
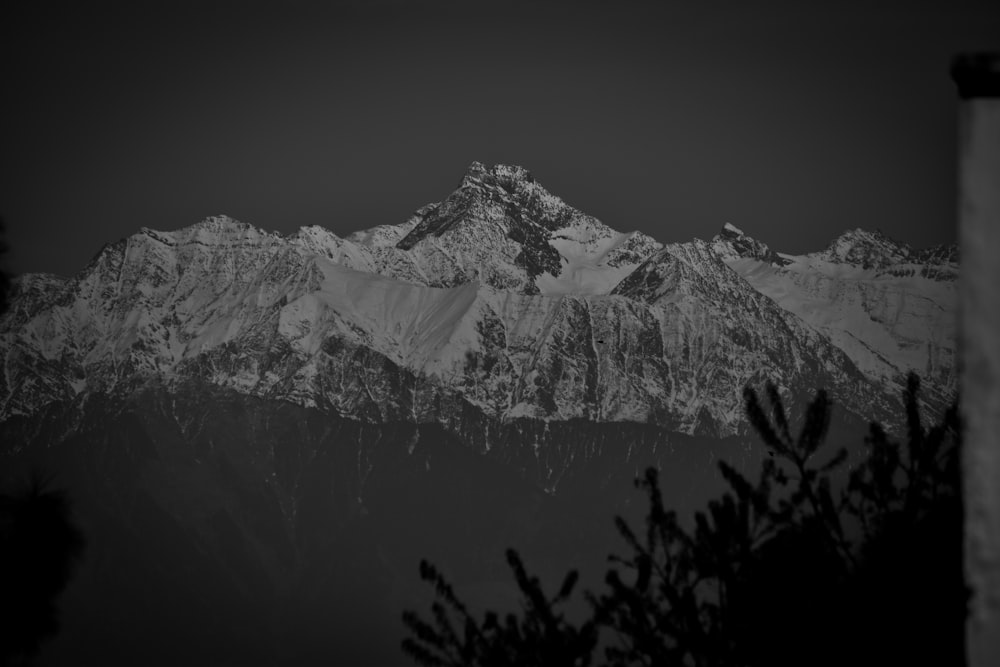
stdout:
POLYGON ((1000 665, 1000 53, 952 65, 959 110, 959 386, 969 665, 1000 665))

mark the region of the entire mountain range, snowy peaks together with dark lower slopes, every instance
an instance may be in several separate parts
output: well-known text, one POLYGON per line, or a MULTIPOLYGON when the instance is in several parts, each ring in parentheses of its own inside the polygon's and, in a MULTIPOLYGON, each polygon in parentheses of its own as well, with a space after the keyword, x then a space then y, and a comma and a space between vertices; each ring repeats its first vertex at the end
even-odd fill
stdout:
POLYGON ((316 619, 337 618, 337 655, 383 660, 372 637, 391 632, 369 626, 419 599, 419 557, 473 590, 507 544, 553 573, 593 565, 610 538, 590 524, 624 511, 641 466, 693 506, 714 460, 752 465, 745 386, 773 381, 793 414, 823 387, 857 435, 903 427, 913 370, 939 411, 957 274, 954 246, 861 229, 805 255, 731 224, 662 243, 473 163, 397 225, 281 235, 214 216, 141 228, 72 277, 20 276, 2 455, 9 476, 55 471, 96 536, 57 655, 118 662, 94 638, 126 633, 122 664, 151 645, 226 661, 249 624, 247 656, 309 662, 332 650, 316 619))

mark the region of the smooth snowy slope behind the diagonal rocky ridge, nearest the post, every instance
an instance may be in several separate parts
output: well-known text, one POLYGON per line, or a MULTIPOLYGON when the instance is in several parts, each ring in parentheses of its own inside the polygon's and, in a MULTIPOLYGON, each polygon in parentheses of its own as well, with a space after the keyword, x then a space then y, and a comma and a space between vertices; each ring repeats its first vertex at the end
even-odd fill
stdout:
POLYGON ((735 227, 713 249, 761 294, 828 336, 873 382, 902 390, 916 371, 933 404, 957 388, 958 258, 855 229, 808 255, 772 252, 735 227))

